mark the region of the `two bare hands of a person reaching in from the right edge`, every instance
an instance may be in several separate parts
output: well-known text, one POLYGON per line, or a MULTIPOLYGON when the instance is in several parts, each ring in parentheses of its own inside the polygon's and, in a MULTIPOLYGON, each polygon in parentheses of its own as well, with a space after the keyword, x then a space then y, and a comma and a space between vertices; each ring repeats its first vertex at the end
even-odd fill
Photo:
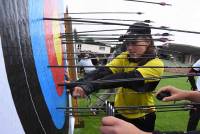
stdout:
MULTIPOLYGON (((193 102, 200 102, 200 92, 199 91, 184 91, 172 86, 166 86, 161 88, 157 94, 161 92, 169 92, 171 95, 164 97, 162 101, 178 101, 178 100, 189 100, 193 102)), ((200 131, 154 131, 145 132, 135 125, 123 121, 121 119, 108 116, 102 118, 100 131, 102 134, 200 134, 200 131)))

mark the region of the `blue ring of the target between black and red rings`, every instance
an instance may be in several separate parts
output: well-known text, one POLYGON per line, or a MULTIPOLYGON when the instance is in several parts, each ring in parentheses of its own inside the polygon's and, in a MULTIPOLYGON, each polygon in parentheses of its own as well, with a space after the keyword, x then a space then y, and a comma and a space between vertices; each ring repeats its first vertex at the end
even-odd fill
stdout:
MULTIPOLYGON (((59 2, 61 2, 59 0, 59 2)), ((66 92, 58 95, 52 70, 48 68, 49 57, 45 41, 44 0, 29 0, 29 29, 37 76, 42 94, 56 128, 61 129, 65 124, 65 113, 57 107, 67 106, 66 92)), ((49 10, 52 10, 51 8, 49 10)), ((64 15, 64 11, 63 11, 64 15)), ((64 77, 63 77, 64 80, 64 77)))

